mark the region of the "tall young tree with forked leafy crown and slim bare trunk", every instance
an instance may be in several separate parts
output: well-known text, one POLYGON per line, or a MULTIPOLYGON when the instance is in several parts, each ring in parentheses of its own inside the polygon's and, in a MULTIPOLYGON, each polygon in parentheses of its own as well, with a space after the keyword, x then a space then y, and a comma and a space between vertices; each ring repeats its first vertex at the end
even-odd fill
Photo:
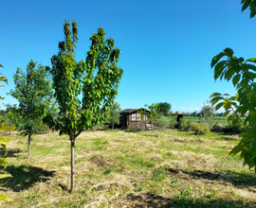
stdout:
POLYGON ((91 46, 85 61, 75 61, 78 42, 76 22, 64 23, 64 41, 59 43, 59 53, 51 59, 48 68, 53 79, 55 95, 62 116, 48 114, 45 122, 52 130, 67 134, 71 142, 71 188, 75 190, 75 139, 82 130, 91 129, 108 118, 110 106, 118 95, 119 80, 123 74, 117 67, 120 50, 114 40, 105 40, 102 27, 90 38, 91 46), (80 96, 82 95, 82 100, 80 96))

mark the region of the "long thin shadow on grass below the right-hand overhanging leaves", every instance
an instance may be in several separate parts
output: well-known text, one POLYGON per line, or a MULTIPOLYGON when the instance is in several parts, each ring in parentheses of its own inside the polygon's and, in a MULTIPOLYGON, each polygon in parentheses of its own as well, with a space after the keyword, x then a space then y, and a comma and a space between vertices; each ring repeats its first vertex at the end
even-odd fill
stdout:
POLYGON ((251 173, 246 172, 234 172, 231 170, 227 170, 226 173, 218 172, 218 171, 202 171, 202 170, 193 170, 186 171, 182 169, 174 169, 168 168, 169 173, 172 173, 177 178, 180 179, 206 179, 210 181, 222 181, 229 182, 234 186, 256 186, 256 178, 251 173))

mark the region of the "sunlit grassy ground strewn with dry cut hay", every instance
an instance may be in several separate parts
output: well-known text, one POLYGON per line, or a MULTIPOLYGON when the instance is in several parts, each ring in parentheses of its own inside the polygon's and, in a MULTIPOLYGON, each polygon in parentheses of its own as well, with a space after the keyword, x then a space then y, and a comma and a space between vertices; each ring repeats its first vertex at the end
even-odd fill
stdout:
POLYGON ((9 136, 13 178, 1 180, 0 207, 256 207, 254 172, 229 151, 237 135, 179 130, 93 130, 76 140, 76 193, 70 195, 70 142, 57 133, 9 136))

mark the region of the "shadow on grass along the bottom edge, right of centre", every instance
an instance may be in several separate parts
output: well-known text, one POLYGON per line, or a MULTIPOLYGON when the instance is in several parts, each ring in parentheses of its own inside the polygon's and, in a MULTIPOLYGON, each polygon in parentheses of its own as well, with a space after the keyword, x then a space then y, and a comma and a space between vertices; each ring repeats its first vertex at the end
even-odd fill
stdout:
MULTIPOLYGON (((132 207, 154 207, 154 208, 214 208, 214 207, 255 207, 255 202, 245 202, 241 199, 229 200, 229 199, 211 199, 210 196, 195 197, 193 193, 181 192, 179 195, 174 196, 173 199, 165 198, 160 195, 151 193, 142 194, 130 194, 126 196, 125 200, 132 200, 134 204, 130 204, 132 207)), ((133 202, 132 202, 133 203, 133 202)))

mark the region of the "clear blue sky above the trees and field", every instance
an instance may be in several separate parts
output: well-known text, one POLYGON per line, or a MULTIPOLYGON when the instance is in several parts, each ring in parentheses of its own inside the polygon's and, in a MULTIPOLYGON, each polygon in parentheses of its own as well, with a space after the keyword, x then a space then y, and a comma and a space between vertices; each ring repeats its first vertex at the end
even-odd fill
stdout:
MULTIPOLYGON (((121 50, 124 71, 116 101, 121 109, 169 102, 173 111, 193 112, 212 93, 234 95, 231 83, 214 81, 211 59, 226 47, 235 56, 256 57, 256 26, 241 0, 0 0, 1 88, 4 103, 17 67, 30 60, 51 66, 64 40, 64 20, 77 22, 77 61, 85 59, 91 34, 102 26, 121 50)), ((3 109, 2 104, 0 105, 3 109)))

